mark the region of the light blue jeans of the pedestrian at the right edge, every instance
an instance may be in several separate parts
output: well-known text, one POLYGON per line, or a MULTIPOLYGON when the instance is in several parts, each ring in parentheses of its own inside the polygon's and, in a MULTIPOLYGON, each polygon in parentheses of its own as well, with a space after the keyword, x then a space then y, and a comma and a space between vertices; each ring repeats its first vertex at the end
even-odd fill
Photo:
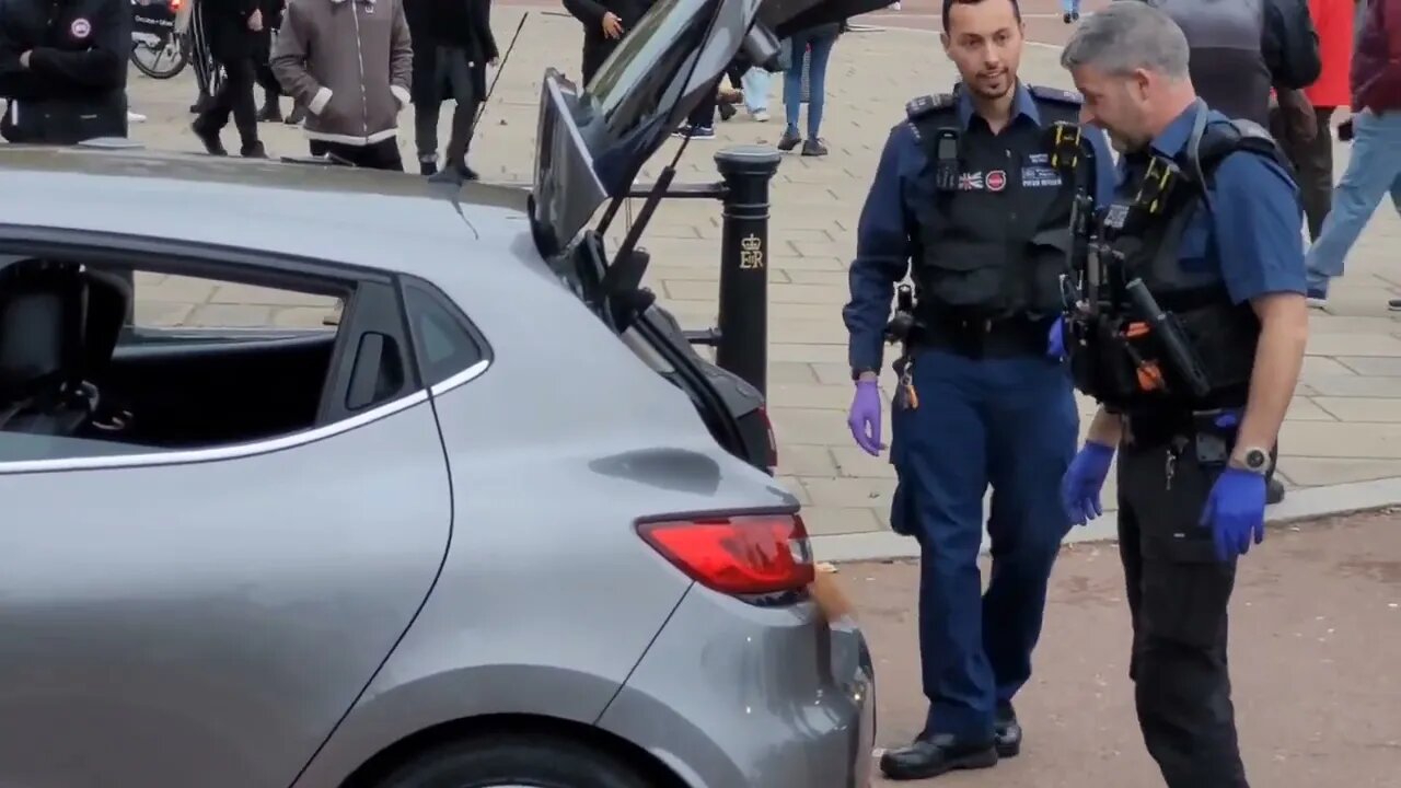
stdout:
POLYGON ((1358 112, 1352 132, 1348 171, 1334 188, 1332 210, 1304 258, 1309 287, 1323 293, 1328 292, 1330 279, 1342 276, 1342 262, 1381 203, 1381 195, 1391 192, 1391 203, 1401 212, 1401 112, 1358 112))

